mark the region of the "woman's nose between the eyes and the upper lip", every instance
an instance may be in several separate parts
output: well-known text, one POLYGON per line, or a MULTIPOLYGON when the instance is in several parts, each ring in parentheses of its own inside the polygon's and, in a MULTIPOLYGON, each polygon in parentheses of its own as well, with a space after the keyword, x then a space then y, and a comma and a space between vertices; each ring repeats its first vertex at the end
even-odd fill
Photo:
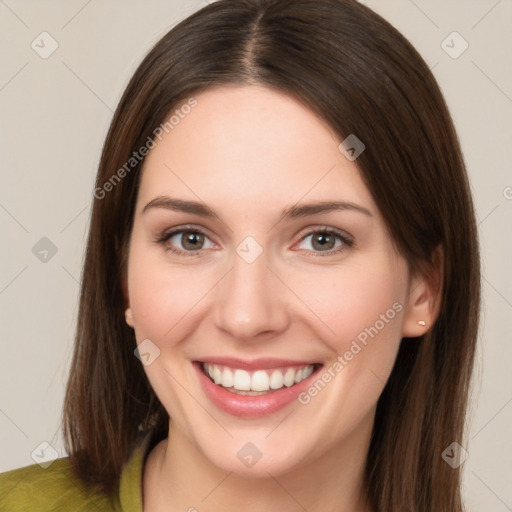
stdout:
POLYGON ((289 294, 268 264, 265 251, 252 263, 234 254, 231 271, 219 283, 215 323, 237 340, 272 337, 289 325, 289 294))

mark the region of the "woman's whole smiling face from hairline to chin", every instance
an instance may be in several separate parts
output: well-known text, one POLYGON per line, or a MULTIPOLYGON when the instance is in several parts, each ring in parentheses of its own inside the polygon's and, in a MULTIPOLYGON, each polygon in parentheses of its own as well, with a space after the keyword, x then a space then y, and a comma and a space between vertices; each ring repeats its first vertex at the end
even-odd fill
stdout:
POLYGON ((195 99, 145 159, 130 240, 127 322, 149 381, 226 471, 361 448, 415 334, 407 264, 314 113, 263 87, 195 99))

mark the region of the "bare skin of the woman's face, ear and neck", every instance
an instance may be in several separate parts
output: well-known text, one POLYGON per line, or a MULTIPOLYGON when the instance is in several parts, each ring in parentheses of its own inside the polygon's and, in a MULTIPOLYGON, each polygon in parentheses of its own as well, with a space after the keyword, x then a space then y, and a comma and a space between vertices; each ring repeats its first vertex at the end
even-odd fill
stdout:
POLYGON ((339 151, 341 139, 312 111, 260 86, 215 87, 195 98, 197 107, 145 160, 129 247, 126 321, 138 343, 150 339, 160 350, 144 370, 172 418, 144 468, 144 510, 370 510, 363 469, 377 400, 401 338, 432 325, 431 286, 409 274, 357 160, 339 151), (143 213, 158 196, 202 202, 217 217, 143 213), (346 209, 281 219, 288 206, 327 200, 371 216, 346 209), (207 234, 195 251, 180 235, 155 241, 189 224, 207 234), (334 236, 325 255, 315 242, 320 228, 355 243, 334 236), (263 250, 253 263, 236 252, 249 235, 263 250), (401 311, 307 405, 294 401, 256 419, 227 414, 191 364, 275 357, 327 369, 394 303, 401 311), (247 442, 262 453, 249 468, 237 457, 247 442))

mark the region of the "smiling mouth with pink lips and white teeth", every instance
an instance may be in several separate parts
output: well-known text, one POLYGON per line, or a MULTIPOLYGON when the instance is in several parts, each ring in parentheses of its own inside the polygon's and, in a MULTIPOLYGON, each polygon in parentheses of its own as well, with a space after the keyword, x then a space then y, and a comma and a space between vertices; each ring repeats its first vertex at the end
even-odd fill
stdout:
MULTIPOLYGON (((232 358, 193 361, 206 397, 238 417, 273 414, 292 404, 316 378, 322 363, 232 358)), ((302 407, 302 405, 301 405, 302 407)))

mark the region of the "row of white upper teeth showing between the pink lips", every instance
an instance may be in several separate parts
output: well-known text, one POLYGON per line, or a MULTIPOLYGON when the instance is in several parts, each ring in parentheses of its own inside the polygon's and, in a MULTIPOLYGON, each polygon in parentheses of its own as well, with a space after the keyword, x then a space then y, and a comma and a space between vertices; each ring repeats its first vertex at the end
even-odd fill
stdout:
POLYGON ((314 365, 301 368, 287 368, 286 371, 257 370, 252 375, 246 370, 228 368, 216 364, 203 363, 207 375, 224 388, 237 391, 269 391, 291 387, 307 379, 314 371, 314 365), (284 375, 283 375, 284 372, 284 375))

